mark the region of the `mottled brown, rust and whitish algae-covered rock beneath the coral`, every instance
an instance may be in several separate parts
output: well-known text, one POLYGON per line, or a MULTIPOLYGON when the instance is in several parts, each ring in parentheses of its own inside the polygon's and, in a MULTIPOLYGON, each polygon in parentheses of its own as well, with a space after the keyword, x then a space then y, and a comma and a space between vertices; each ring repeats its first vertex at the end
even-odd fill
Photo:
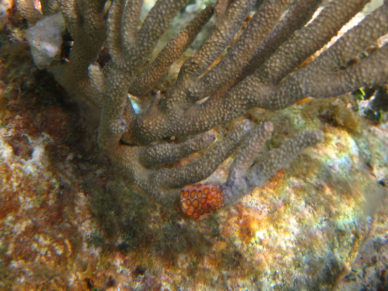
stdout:
POLYGON ((196 222, 122 182, 26 28, 14 11, 0 34, 1 290, 388 289, 387 86, 249 112, 274 123, 268 148, 325 140, 196 222))

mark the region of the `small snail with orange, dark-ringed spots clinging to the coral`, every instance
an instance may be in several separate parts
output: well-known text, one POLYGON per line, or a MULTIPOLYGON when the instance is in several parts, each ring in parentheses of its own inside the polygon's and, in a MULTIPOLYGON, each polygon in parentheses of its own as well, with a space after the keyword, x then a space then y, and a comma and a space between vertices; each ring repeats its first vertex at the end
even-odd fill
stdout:
POLYGON ((194 184, 183 188, 177 211, 187 217, 204 219, 224 206, 222 190, 212 184, 194 184))

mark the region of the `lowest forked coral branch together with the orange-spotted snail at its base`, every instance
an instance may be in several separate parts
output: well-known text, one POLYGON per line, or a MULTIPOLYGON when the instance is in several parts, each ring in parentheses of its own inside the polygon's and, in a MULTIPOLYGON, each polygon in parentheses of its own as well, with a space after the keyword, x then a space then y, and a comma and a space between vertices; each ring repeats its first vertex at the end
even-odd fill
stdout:
POLYGON ((226 183, 196 184, 184 187, 178 197, 176 209, 183 216, 204 219, 211 213, 232 205, 243 195, 261 186, 276 171, 287 165, 307 146, 323 141, 320 130, 303 131, 265 156, 252 167, 261 146, 273 130, 270 122, 261 124, 246 136, 232 166, 226 183), (248 147, 247 147, 248 146, 248 147))

